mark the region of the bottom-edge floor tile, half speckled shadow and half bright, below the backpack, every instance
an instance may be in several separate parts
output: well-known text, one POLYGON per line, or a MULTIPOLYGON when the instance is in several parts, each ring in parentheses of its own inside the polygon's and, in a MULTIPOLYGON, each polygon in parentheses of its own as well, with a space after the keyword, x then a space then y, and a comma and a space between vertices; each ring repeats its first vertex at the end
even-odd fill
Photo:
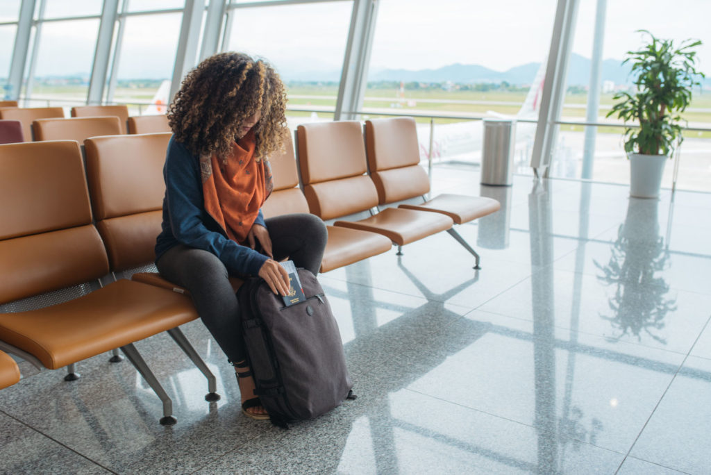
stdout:
POLYGON ((358 400, 200 473, 614 473, 623 454, 370 379, 358 400), (483 429, 486 428, 486 429, 483 429), (597 472, 599 473, 599 472, 597 472))

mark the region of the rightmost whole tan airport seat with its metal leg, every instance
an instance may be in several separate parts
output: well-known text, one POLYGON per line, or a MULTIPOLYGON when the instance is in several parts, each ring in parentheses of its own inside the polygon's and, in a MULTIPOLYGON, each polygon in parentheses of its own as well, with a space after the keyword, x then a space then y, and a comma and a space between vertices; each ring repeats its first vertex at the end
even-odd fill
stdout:
MULTIPOLYGON (((456 224, 469 223, 501 208, 498 201, 483 196, 442 194, 427 201, 424 195, 429 193, 429 178, 419 166, 418 143, 412 117, 365 121, 368 168, 381 205, 421 198, 423 203, 402 203, 398 208, 444 214, 456 224)), ((447 232, 474 255, 474 268, 479 269, 479 255, 474 249, 454 228, 447 232)))

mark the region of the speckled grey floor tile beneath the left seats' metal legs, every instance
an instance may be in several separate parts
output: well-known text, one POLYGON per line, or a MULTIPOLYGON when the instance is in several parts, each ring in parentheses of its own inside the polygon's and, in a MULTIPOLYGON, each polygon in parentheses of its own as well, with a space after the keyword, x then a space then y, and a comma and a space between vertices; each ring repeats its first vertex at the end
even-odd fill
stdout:
POLYGON ((72 383, 61 370, 21 380, 0 392, 0 410, 118 473, 189 473, 270 429, 242 416, 226 363, 220 374, 208 358, 223 396, 209 403, 203 375, 170 338, 137 347, 173 400, 178 423, 172 427, 159 425, 159 399, 132 365, 107 363, 105 356, 80 363, 82 378, 72 383))

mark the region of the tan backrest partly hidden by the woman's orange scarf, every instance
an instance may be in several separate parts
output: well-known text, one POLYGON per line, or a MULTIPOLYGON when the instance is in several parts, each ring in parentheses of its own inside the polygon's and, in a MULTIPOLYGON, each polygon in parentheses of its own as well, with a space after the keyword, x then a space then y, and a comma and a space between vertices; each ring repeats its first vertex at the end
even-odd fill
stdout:
POLYGON ((274 176, 274 190, 262 205, 264 218, 291 213, 309 213, 304 193, 299 188, 299 172, 296 170, 292 138, 284 144, 284 152, 269 158, 274 176))

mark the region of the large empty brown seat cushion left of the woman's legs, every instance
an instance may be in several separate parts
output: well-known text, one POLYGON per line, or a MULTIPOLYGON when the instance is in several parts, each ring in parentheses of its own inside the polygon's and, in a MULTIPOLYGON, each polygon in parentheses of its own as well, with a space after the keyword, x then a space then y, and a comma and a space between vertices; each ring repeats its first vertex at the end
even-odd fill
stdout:
POLYGON ((0 339, 56 369, 196 318, 188 297, 122 279, 63 304, 0 314, 0 339))

